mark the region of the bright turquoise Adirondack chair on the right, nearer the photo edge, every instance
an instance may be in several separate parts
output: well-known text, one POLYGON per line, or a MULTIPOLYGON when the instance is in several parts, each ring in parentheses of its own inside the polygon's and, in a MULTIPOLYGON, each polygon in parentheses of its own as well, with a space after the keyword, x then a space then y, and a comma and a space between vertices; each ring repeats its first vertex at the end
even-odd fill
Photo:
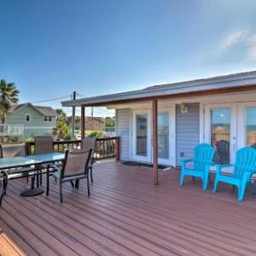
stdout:
POLYGON ((250 187, 251 192, 254 194, 252 183, 252 175, 256 172, 256 149, 254 148, 241 148, 236 152, 235 165, 218 165, 216 177, 214 182, 213 192, 217 191, 219 182, 228 183, 238 188, 237 199, 242 201, 247 185, 250 187), (232 176, 222 174, 223 167, 233 166, 232 176))

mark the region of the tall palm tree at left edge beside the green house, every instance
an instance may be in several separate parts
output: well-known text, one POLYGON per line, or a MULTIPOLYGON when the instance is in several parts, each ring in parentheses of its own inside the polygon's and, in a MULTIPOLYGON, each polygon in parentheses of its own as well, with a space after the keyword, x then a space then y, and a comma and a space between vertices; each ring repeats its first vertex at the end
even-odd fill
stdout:
POLYGON ((19 93, 20 91, 16 89, 15 83, 0 80, 0 119, 2 124, 5 123, 6 113, 9 109, 19 102, 19 93))

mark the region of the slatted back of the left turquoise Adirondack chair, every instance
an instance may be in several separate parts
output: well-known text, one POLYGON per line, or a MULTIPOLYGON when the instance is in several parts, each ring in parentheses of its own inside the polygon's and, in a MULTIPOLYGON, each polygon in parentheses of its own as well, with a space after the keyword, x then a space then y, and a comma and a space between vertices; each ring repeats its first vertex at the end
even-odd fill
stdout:
POLYGON ((203 172, 206 165, 212 165, 214 148, 210 144, 202 143, 195 148, 194 168, 203 172))

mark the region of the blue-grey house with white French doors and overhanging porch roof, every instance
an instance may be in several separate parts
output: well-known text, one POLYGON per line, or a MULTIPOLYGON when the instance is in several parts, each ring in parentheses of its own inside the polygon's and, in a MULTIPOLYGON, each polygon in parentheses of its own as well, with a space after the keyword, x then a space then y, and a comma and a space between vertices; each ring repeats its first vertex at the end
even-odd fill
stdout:
POLYGON ((256 146, 256 71, 87 97, 62 106, 116 109, 121 160, 152 162, 156 141, 158 161, 172 166, 193 157, 199 143, 211 143, 216 162, 222 163, 234 163, 237 149, 256 146), (153 132, 155 107, 158 136, 153 132))

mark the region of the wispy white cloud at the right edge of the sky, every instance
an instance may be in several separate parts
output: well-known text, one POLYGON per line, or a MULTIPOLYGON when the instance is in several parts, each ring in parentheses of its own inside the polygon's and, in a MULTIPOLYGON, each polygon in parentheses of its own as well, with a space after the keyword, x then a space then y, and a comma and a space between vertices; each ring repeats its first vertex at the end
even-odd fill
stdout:
POLYGON ((247 54, 247 60, 256 61, 256 33, 247 30, 231 32, 224 38, 222 49, 227 50, 236 45, 244 47, 247 54))

